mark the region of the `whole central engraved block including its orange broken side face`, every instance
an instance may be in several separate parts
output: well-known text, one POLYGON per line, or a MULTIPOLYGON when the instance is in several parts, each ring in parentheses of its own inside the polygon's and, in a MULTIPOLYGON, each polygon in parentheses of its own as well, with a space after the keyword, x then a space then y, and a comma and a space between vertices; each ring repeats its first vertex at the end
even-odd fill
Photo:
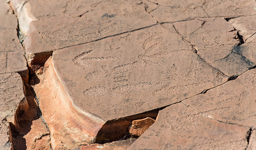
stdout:
POLYGON ((140 115, 143 112, 227 81, 192 51, 172 25, 165 27, 53 52, 45 79, 40 79, 44 88, 35 87, 38 96, 45 97, 40 98, 40 108, 53 149, 70 142, 120 139, 133 120, 157 115, 140 115))

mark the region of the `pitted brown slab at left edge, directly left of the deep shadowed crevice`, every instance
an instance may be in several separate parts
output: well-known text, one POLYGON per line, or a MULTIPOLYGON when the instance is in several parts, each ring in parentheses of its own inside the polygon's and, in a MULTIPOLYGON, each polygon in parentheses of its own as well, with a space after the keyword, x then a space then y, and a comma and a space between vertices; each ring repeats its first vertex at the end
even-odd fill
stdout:
POLYGON ((0 75, 0 116, 14 123, 14 114, 19 103, 25 99, 23 84, 18 73, 0 75))

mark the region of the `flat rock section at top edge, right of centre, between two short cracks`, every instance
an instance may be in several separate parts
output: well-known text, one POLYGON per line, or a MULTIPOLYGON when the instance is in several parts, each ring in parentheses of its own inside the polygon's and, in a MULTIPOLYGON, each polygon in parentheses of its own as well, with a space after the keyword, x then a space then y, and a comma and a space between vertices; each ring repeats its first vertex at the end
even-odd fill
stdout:
POLYGON ((157 2, 159 7, 150 14, 160 23, 207 17, 202 8, 204 0, 160 0, 157 2))

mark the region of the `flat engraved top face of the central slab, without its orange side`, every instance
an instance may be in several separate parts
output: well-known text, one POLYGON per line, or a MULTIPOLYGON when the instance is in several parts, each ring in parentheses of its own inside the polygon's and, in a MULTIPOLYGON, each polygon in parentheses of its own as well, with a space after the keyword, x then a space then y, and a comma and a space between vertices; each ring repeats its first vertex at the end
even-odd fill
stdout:
POLYGON ((52 60, 74 105, 112 120, 175 103, 226 81, 191 49, 174 30, 158 25, 59 50, 52 60))

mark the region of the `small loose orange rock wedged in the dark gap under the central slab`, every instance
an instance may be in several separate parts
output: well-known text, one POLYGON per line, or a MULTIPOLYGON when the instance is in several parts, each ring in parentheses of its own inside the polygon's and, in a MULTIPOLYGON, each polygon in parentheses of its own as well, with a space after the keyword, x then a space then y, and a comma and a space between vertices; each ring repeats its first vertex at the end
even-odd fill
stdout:
POLYGON ((134 120, 132 122, 132 125, 129 127, 129 133, 132 136, 141 136, 146 130, 149 129, 149 127, 155 122, 155 119, 152 119, 150 117, 140 119, 140 120, 134 120))

